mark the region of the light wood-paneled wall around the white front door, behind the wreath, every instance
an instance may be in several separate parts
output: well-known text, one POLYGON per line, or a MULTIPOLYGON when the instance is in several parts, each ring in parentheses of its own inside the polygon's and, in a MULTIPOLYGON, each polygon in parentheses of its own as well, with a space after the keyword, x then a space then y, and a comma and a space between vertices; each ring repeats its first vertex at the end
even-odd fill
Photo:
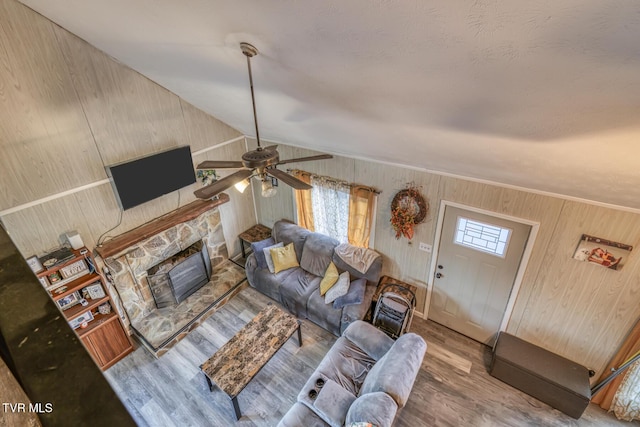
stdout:
MULTIPOLYGON (((279 151, 282 159, 316 154, 285 145, 279 151)), ((287 166, 382 190, 375 249, 384 257, 385 274, 418 285, 418 311, 424 309, 431 284, 431 256, 418 250, 418 242, 436 243, 438 209, 446 200, 540 224, 508 332, 600 374, 640 315, 638 214, 344 157, 287 166), (413 244, 396 240, 389 223, 391 200, 408 182, 420 186, 430 203, 413 244), (621 271, 576 261, 572 256, 583 233, 631 244, 636 250, 621 271)), ((256 209, 266 225, 293 219, 291 190, 281 185, 270 199, 256 194, 256 209)))

